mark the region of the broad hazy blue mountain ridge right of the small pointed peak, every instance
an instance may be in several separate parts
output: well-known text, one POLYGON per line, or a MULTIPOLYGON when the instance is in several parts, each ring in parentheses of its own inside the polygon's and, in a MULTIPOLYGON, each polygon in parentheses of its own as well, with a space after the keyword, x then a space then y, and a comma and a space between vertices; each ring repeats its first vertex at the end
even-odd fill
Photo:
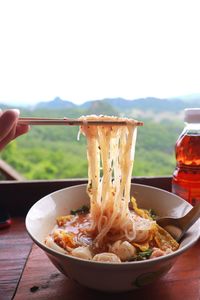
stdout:
MULTIPOLYGON (((127 100, 123 98, 107 98, 97 101, 88 101, 81 105, 85 109, 86 114, 110 114, 122 117, 130 117, 137 119, 151 119, 156 122, 162 120, 183 120, 185 108, 200 107, 199 100, 183 101, 181 99, 160 99, 154 97, 140 98, 135 100, 127 100), (94 106, 98 103, 99 109, 94 111, 94 106), (101 107, 100 107, 101 103, 101 107), (109 105, 106 109, 104 105, 109 105)), ((85 114, 85 113, 84 113, 85 114)))

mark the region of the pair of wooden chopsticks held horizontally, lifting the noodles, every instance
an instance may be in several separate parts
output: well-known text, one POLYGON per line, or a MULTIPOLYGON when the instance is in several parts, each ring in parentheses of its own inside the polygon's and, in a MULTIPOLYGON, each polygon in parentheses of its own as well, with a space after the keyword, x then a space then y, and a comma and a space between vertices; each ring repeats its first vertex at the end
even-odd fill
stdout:
POLYGON ((20 125, 67 125, 67 126, 80 126, 80 125, 127 125, 132 123, 135 126, 142 126, 143 122, 131 120, 81 120, 70 118, 19 118, 18 124, 20 125))

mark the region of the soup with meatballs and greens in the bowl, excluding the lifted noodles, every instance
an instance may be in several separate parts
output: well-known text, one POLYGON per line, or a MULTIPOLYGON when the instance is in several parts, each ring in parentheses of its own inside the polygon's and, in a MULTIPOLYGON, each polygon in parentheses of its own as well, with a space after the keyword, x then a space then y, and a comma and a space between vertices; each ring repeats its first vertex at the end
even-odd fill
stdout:
POLYGON ((57 218, 57 225, 46 238, 47 246, 68 255, 99 262, 131 262, 152 259, 177 250, 179 244, 156 224, 148 210, 138 209, 136 202, 130 209, 136 236, 128 241, 119 232, 109 232, 102 244, 96 243, 91 231, 92 218, 88 206, 57 218))

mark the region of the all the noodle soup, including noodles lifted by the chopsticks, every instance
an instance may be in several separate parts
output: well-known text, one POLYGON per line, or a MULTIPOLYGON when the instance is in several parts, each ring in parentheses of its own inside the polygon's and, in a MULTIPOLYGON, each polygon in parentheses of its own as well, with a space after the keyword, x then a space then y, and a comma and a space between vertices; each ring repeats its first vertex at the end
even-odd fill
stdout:
POLYGON ((121 263, 169 254, 178 243, 131 197, 137 121, 108 116, 82 117, 87 139, 88 208, 57 218, 45 239, 48 247, 74 257, 121 263), (88 120, 126 125, 88 125, 88 120))

